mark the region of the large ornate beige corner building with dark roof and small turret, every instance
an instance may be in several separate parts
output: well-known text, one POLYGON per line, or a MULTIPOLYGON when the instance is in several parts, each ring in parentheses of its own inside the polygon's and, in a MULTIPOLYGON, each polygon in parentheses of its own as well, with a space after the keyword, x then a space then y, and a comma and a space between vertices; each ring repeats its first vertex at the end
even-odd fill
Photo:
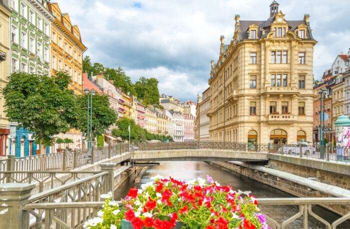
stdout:
POLYGON ((230 43, 220 37, 209 79, 210 140, 312 142, 316 41, 309 15, 289 21, 278 6, 272 2, 266 21, 241 21, 235 15, 230 43))

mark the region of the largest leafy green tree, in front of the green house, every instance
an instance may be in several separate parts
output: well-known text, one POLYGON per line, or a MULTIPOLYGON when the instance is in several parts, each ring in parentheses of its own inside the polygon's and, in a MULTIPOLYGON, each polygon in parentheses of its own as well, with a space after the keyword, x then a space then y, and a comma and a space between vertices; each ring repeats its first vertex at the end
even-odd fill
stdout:
POLYGON ((8 80, 3 89, 6 116, 33 132, 41 150, 54 143, 54 135, 67 132, 76 122, 75 96, 68 89, 70 76, 63 72, 51 77, 16 72, 8 80))

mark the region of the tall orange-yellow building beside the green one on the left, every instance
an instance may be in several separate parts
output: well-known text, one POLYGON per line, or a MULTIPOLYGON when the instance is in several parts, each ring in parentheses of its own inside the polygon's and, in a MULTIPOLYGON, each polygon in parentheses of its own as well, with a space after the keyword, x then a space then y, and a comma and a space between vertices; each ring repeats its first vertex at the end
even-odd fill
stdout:
POLYGON ((57 3, 47 7, 54 16, 51 25, 51 75, 65 71, 71 76, 72 89, 82 93, 82 54, 86 47, 82 44, 79 28, 72 26, 69 15, 62 14, 57 3))

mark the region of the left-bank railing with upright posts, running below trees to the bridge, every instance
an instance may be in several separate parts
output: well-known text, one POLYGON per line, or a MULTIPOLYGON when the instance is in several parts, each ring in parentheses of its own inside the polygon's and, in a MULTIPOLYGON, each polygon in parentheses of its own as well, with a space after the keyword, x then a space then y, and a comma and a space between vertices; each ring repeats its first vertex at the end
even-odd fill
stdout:
POLYGON ((0 171, 67 171, 125 153, 128 151, 127 146, 127 143, 120 143, 26 157, 9 155, 0 160, 0 171))

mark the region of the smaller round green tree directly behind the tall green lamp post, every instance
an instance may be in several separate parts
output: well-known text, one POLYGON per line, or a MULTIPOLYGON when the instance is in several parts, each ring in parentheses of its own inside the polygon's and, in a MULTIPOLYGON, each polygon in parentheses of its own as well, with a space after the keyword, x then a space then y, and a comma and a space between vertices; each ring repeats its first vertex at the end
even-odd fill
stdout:
MULTIPOLYGON (((87 95, 78 95, 78 118, 72 125, 74 128, 87 132, 87 95)), ((92 96, 92 137, 97 137, 114 124, 117 116, 109 107, 108 96, 95 94, 92 96)))

